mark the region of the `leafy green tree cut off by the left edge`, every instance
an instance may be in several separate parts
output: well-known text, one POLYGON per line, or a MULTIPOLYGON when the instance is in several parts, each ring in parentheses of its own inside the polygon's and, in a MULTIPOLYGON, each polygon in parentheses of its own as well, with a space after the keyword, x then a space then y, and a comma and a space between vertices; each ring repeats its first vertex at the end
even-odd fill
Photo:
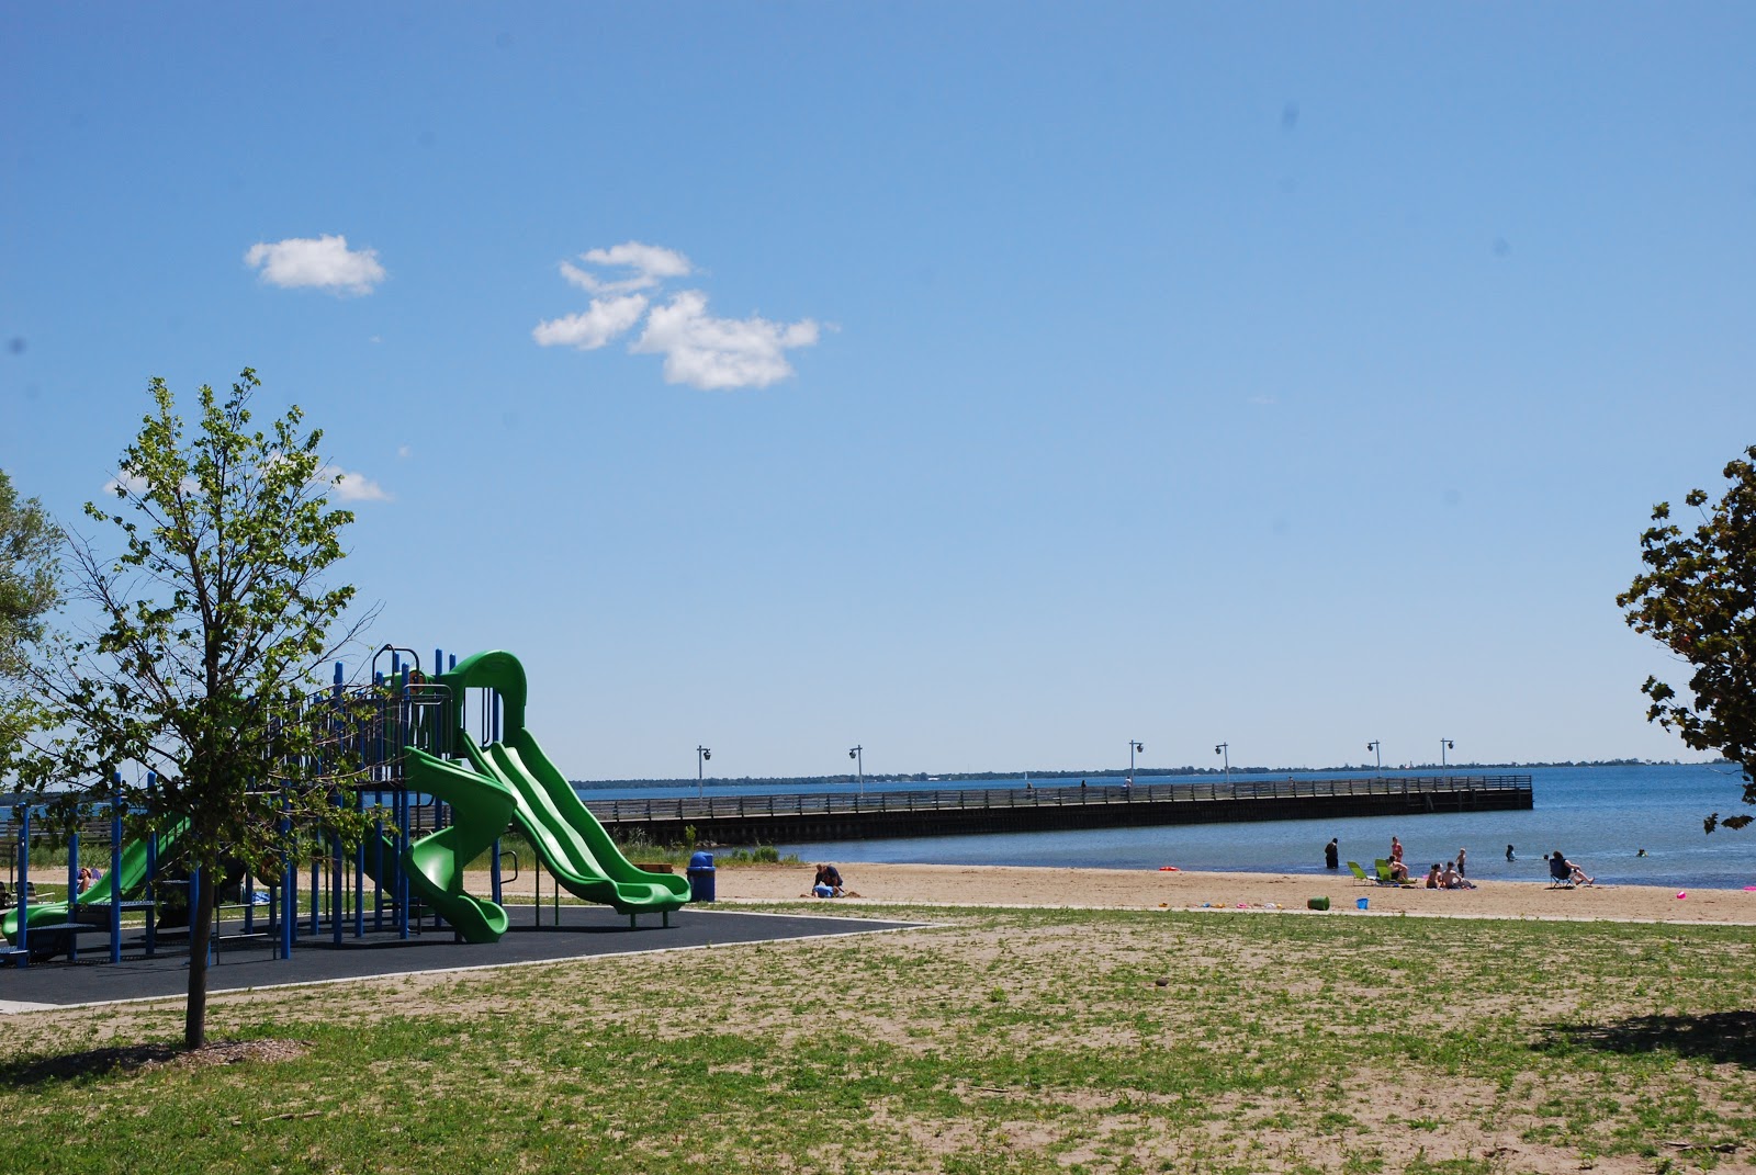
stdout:
POLYGON ((32 646, 44 634, 44 615, 56 602, 60 532, 37 499, 18 501, 0 469, 0 771, 39 718, 35 697, 16 685, 32 666, 32 646))

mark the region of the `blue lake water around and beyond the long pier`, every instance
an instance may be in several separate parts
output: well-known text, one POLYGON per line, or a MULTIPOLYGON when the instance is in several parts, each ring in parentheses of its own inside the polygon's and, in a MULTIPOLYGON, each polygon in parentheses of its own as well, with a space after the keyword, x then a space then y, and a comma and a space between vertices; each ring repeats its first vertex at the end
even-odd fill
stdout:
MULTIPOLYGON (((1147 829, 1080 833, 1006 833, 982 836, 922 836, 778 845, 806 861, 908 864, 1033 864, 1113 869, 1219 869, 1252 873, 1326 873, 1322 847, 1342 840, 1342 861, 1371 869, 1387 857, 1391 836, 1400 836, 1410 873, 1470 850, 1470 876, 1479 880, 1547 880, 1542 855, 1559 848, 1598 883, 1666 885, 1677 889, 1742 889, 1756 885, 1756 824, 1733 833, 1702 833, 1702 817, 1749 811, 1740 803, 1742 776, 1724 764, 1630 768, 1528 768, 1535 789, 1531 811, 1354 817, 1345 820, 1264 820, 1254 824, 1182 824, 1147 829), (1517 861, 1505 859, 1507 845, 1517 861), (1637 855, 1645 848, 1647 855, 1637 855)), ((1298 778, 1345 778, 1340 773, 1296 773, 1298 778)), ((1357 773, 1350 773, 1357 778, 1357 773)), ((1394 776, 1396 773, 1385 773, 1394 776)), ((1285 778, 1233 773, 1234 780, 1285 778)), ((1113 780, 1105 780, 1113 782, 1113 780)), ((1189 776, 1136 775, 1138 783, 1189 782, 1189 776)), ((1054 787, 1068 780, 1041 780, 1054 787)), ((1075 782, 1076 783, 1076 782, 1075 782)), ((1024 778, 983 783, 885 783, 866 790, 920 790, 925 787, 1024 787, 1024 778)), ((709 794, 767 794, 780 790, 711 785, 709 794)), ((850 789, 839 789, 850 790, 850 789)), ((620 792, 618 792, 620 794, 620 792)), ((676 796, 669 792, 644 792, 676 796)), ((609 792, 587 792, 609 799, 609 792)))

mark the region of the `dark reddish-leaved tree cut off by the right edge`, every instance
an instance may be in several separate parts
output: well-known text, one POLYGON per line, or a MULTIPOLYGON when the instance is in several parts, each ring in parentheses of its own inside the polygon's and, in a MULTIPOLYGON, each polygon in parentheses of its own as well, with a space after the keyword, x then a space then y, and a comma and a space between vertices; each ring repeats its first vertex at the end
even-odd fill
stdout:
MULTIPOLYGON (((1744 769, 1744 803, 1756 804, 1756 444, 1724 469, 1731 487, 1707 508, 1705 490, 1684 499, 1700 515, 1684 532, 1670 502, 1652 508, 1640 536, 1647 569, 1616 597, 1637 632, 1663 641, 1695 667, 1691 699, 1649 676, 1647 720, 1677 731, 1696 750, 1717 750, 1744 769)), ((1749 815, 1703 820, 1740 829, 1749 815)))

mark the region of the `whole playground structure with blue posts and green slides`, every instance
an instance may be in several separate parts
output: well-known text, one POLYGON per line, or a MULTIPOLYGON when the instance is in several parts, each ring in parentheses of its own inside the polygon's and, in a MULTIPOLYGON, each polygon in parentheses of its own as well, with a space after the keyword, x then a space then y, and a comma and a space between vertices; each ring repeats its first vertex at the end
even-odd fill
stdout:
MULTIPOLYGON (((441 664, 435 650, 435 669, 441 664)), ((167 906, 193 908, 204 883, 221 887, 216 943, 265 936, 277 959, 291 957, 300 933, 318 938, 327 929, 339 947, 349 929, 353 938, 393 931, 407 940, 423 933, 427 920, 464 941, 492 943, 511 922, 502 905, 500 840, 507 831, 522 833, 537 855, 539 924, 546 868, 557 903, 565 889, 625 913, 630 929, 641 913, 658 913, 669 926, 671 912, 690 901, 688 880, 639 869, 622 855, 525 727, 527 696, 523 666, 506 652, 478 653, 462 664, 453 659, 446 673, 427 676, 413 650, 386 645, 372 659, 372 685, 355 688, 344 685, 337 664, 335 683, 306 699, 302 718, 325 722, 332 753, 363 764, 356 782, 337 790, 335 804, 381 815, 372 834, 353 848, 334 829, 283 822, 272 878, 251 876, 242 866, 235 878, 202 878, 198 869, 179 868, 186 817, 172 813, 156 831, 126 840, 128 813, 116 801, 98 801, 88 804, 88 813, 107 806, 105 818, 88 815, 76 827, 51 831, 67 845, 68 897, 37 901, 30 847, 44 833, 42 817, 33 831, 32 808, 19 804, 12 822, 0 822, 0 838, 16 841, 16 905, 0 919, 5 954, 18 966, 60 954, 77 959, 81 934, 107 933, 109 957, 119 962, 125 913, 142 915, 139 941, 153 954, 162 938, 176 934, 163 926, 167 906), (386 655, 388 671, 379 671, 386 655), (79 892, 81 840, 90 845, 100 838, 109 843, 109 869, 79 892), (483 854, 490 862, 488 897, 471 894, 465 876, 483 854), (306 866, 309 903, 300 910, 306 866), (227 915, 237 924, 232 934, 221 934, 227 915)), ((516 855, 513 862, 516 878, 522 862, 516 855)))

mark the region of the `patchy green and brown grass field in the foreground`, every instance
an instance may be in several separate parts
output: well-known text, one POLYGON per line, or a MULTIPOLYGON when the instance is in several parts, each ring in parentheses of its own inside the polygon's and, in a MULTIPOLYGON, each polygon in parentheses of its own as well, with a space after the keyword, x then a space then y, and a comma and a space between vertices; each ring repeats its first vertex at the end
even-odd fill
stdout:
POLYGON ((216 999, 211 1038, 290 1059, 142 1064, 179 1003, 7 1017, 5 1150, 135 1175, 1756 1163, 1747 929, 883 917, 934 926, 216 999))

